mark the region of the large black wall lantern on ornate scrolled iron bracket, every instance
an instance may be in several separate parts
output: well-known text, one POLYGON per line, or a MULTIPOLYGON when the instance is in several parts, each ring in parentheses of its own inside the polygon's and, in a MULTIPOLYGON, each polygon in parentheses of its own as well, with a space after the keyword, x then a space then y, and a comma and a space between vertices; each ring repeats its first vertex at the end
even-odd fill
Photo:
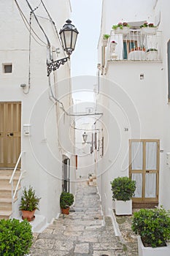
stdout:
POLYGON ((50 72, 52 72, 52 70, 55 71, 60 67, 61 64, 63 65, 64 63, 66 63, 66 61, 70 59, 70 55, 72 54, 76 45, 77 34, 79 34, 79 32, 77 31, 75 26, 72 25, 71 20, 66 20, 66 24, 63 25, 63 28, 61 29, 59 34, 61 36, 63 50, 66 51, 68 57, 47 63, 47 76, 50 75, 50 72))

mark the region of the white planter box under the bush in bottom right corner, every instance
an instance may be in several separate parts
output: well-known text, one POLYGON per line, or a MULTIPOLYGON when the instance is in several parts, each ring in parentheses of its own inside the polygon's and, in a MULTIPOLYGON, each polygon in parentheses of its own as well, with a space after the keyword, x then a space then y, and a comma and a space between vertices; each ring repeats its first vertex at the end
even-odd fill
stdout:
POLYGON ((139 256, 169 256, 170 246, 163 247, 144 247, 141 237, 138 236, 138 253, 139 256))

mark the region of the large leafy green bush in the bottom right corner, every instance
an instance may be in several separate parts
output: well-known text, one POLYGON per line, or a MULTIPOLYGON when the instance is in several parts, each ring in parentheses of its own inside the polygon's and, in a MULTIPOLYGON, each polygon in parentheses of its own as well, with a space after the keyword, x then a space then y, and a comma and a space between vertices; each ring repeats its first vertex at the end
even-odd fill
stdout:
POLYGON ((170 239, 170 212, 162 206, 140 209, 134 213, 132 230, 141 236, 144 246, 166 246, 170 239))

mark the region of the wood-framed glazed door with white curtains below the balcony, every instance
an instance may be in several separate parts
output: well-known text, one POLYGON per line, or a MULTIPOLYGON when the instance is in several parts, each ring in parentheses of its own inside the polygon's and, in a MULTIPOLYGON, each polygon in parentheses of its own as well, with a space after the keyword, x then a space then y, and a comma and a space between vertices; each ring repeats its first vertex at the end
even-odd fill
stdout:
POLYGON ((130 140, 129 175, 136 181, 134 203, 158 204, 159 140, 130 140))

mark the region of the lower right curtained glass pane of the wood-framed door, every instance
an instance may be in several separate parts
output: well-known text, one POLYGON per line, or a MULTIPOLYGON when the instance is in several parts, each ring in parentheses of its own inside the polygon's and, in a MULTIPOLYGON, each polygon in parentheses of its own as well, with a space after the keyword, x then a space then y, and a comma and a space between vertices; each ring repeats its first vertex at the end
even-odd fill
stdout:
POLYGON ((156 173, 146 173, 145 197, 156 197, 156 173))

